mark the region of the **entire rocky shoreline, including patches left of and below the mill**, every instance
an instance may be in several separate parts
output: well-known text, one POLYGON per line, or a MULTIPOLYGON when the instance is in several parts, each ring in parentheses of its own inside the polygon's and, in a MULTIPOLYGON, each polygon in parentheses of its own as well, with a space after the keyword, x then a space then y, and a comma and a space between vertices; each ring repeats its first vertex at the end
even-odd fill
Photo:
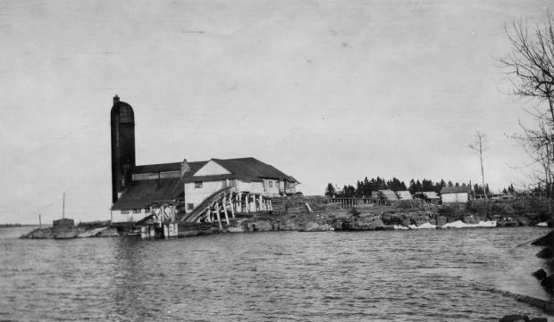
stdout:
MULTIPOLYGON (((223 231, 373 231, 440 227, 535 226, 550 219, 543 200, 523 198, 509 201, 459 205, 424 204, 418 201, 393 205, 362 204, 342 208, 323 196, 282 198, 274 211, 239 215, 223 231)), ((180 236, 204 235, 219 231, 206 224, 184 223, 180 236)), ((181 226, 181 224, 180 224, 181 226)), ((545 224, 546 226, 546 224, 545 224)), ((73 237, 131 235, 133 227, 118 229, 104 225, 78 225, 73 237), (104 229, 99 229, 103 227, 104 229)), ((138 229, 139 227, 134 227, 138 229)), ((74 233, 74 234, 72 234, 74 233)), ((55 238, 51 227, 36 229, 22 238, 55 238)), ((554 252, 554 251, 552 251, 554 252)))

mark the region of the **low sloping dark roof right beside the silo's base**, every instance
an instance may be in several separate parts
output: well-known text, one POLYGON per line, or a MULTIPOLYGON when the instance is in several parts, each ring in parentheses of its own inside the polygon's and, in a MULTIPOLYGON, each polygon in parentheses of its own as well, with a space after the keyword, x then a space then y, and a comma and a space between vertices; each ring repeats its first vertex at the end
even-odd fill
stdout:
POLYGON ((180 178, 133 181, 113 203, 114 211, 143 209, 155 201, 181 198, 184 185, 180 178))

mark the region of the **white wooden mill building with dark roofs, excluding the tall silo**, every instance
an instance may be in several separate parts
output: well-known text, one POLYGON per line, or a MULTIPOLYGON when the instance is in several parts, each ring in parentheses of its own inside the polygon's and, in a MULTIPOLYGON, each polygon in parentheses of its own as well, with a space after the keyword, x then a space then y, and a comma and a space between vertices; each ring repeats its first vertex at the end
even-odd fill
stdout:
POLYGON ((194 211, 224 188, 234 187, 236 212, 269 211, 270 199, 296 193, 298 181, 255 158, 149 164, 133 169, 132 180, 112 206, 113 222, 139 221, 155 211, 194 211), (160 205, 164 205, 159 208, 160 205), (184 207, 175 206, 181 204, 184 207))

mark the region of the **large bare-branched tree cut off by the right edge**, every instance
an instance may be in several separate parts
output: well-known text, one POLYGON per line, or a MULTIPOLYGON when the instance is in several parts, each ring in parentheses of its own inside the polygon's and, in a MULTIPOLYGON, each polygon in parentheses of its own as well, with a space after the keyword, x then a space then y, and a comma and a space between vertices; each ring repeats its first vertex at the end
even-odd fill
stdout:
POLYGON ((522 125, 523 135, 515 138, 533 163, 540 165, 540 173, 534 177, 544 183, 550 196, 554 164, 554 15, 546 12, 545 19, 533 26, 515 20, 506 27, 506 34, 511 50, 499 63, 507 70, 512 94, 538 101, 532 111, 525 110, 536 120, 535 127, 522 125))

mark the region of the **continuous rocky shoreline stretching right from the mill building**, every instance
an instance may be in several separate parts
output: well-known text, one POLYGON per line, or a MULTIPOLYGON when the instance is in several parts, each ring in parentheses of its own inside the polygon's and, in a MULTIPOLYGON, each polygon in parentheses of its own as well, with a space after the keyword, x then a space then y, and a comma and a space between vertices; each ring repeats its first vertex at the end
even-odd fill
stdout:
MULTIPOLYGON (((324 197, 303 197, 296 202, 308 203, 312 212, 283 211, 276 214, 255 214, 242 220, 245 231, 364 231, 392 230, 416 227, 479 227, 494 222, 494 227, 536 226, 550 215, 541 201, 533 199, 498 201, 460 205, 434 205, 418 202, 380 206, 363 204, 341 208, 324 197), (456 227, 456 226, 454 226, 456 227)), ((491 226, 487 226, 491 227, 491 226)))

